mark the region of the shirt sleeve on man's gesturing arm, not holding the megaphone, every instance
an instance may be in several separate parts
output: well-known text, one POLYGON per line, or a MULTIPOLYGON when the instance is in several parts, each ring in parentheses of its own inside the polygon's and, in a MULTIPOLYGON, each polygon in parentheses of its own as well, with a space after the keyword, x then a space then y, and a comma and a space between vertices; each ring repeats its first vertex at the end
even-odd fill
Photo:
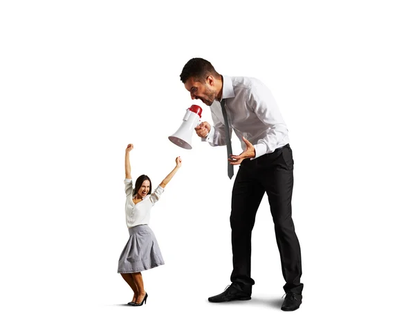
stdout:
MULTIPOLYGON (((273 152, 288 130, 271 91, 264 84, 252 86, 248 94, 248 106, 253 109, 259 120, 269 126, 265 138, 254 144, 255 158, 273 152)), ((252 160, 251 159, 251 160, 252 160)))

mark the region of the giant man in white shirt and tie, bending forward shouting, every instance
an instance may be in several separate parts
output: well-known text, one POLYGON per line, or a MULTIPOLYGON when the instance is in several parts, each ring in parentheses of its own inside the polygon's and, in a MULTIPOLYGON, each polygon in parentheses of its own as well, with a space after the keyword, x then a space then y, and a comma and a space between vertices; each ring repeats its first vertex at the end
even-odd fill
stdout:
MULTIPOLYGON (((286 124, 272 93, 258 79, 220 75, 202 58, 187 61, 180 77, 192 100, 201 100, 210 106, 214 124, 203 122, 196 127, 197 135, 212 146, 228 142, 230 149, 229 137, 233 129, 243 149, 240 155, 228 155, 230 164, 240 164, 232 189, 230 214, 232 284, 209 301, 250 299, 255 283, 250 276, 251 233, 257 209, 266 193, 286 281, 282 310, 297 310, 302 303, 303 284, 300 283, 301 252, 291 218, 293 152, 288 144, 286 124)), ((232 177, 233 169, 228 173, 232 177)))

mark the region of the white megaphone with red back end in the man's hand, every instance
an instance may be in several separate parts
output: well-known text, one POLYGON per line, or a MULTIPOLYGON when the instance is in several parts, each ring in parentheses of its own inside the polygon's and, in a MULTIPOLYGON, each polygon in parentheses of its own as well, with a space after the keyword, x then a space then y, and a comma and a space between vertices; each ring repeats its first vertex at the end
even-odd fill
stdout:
POLYGON ((194 128, 201 124, 202 108, 199 105, 192 105, 187 108, 183 122, 178 130, 169 136, 169 140, 183 149, 192 149, 192 134, 194 128))

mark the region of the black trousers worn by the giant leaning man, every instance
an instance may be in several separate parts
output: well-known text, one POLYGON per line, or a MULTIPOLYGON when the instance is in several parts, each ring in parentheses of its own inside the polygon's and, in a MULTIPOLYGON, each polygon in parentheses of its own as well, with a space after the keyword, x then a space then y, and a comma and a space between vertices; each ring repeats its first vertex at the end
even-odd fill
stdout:
POLYGON ((239 166, 232 190, 233 271, 230 280, 249 294, 255 281, 250 277, 251 234, 255 215, 266 192, 273 215, 275 237, 286 281, 285 292, 302 293, 301 252, 291 218, 293 195, 293 151, 289 144, 273 153, 249 160, 239 166))

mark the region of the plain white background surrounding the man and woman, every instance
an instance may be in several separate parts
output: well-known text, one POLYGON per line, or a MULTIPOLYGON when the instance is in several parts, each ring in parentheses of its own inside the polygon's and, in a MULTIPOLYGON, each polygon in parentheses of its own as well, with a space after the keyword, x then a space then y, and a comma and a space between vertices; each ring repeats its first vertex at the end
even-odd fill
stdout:
MULTIPOLYGON (((412 1, 1 1, 1 320, 414 321, 412 1), (167 136, 194 102, 192 57, 261 79, 288 125, 304 299, 282 312, 266 196, 252 233, 252 301, 230 283, 225 147, 167 136), (158 184, 165 265, 147 305, 117 274, 128 238, 124 149, 158 184), (6 319, 5 319, 6 318, 6 319)), ((233 142, 240 153, 239 142, 233 142)))

